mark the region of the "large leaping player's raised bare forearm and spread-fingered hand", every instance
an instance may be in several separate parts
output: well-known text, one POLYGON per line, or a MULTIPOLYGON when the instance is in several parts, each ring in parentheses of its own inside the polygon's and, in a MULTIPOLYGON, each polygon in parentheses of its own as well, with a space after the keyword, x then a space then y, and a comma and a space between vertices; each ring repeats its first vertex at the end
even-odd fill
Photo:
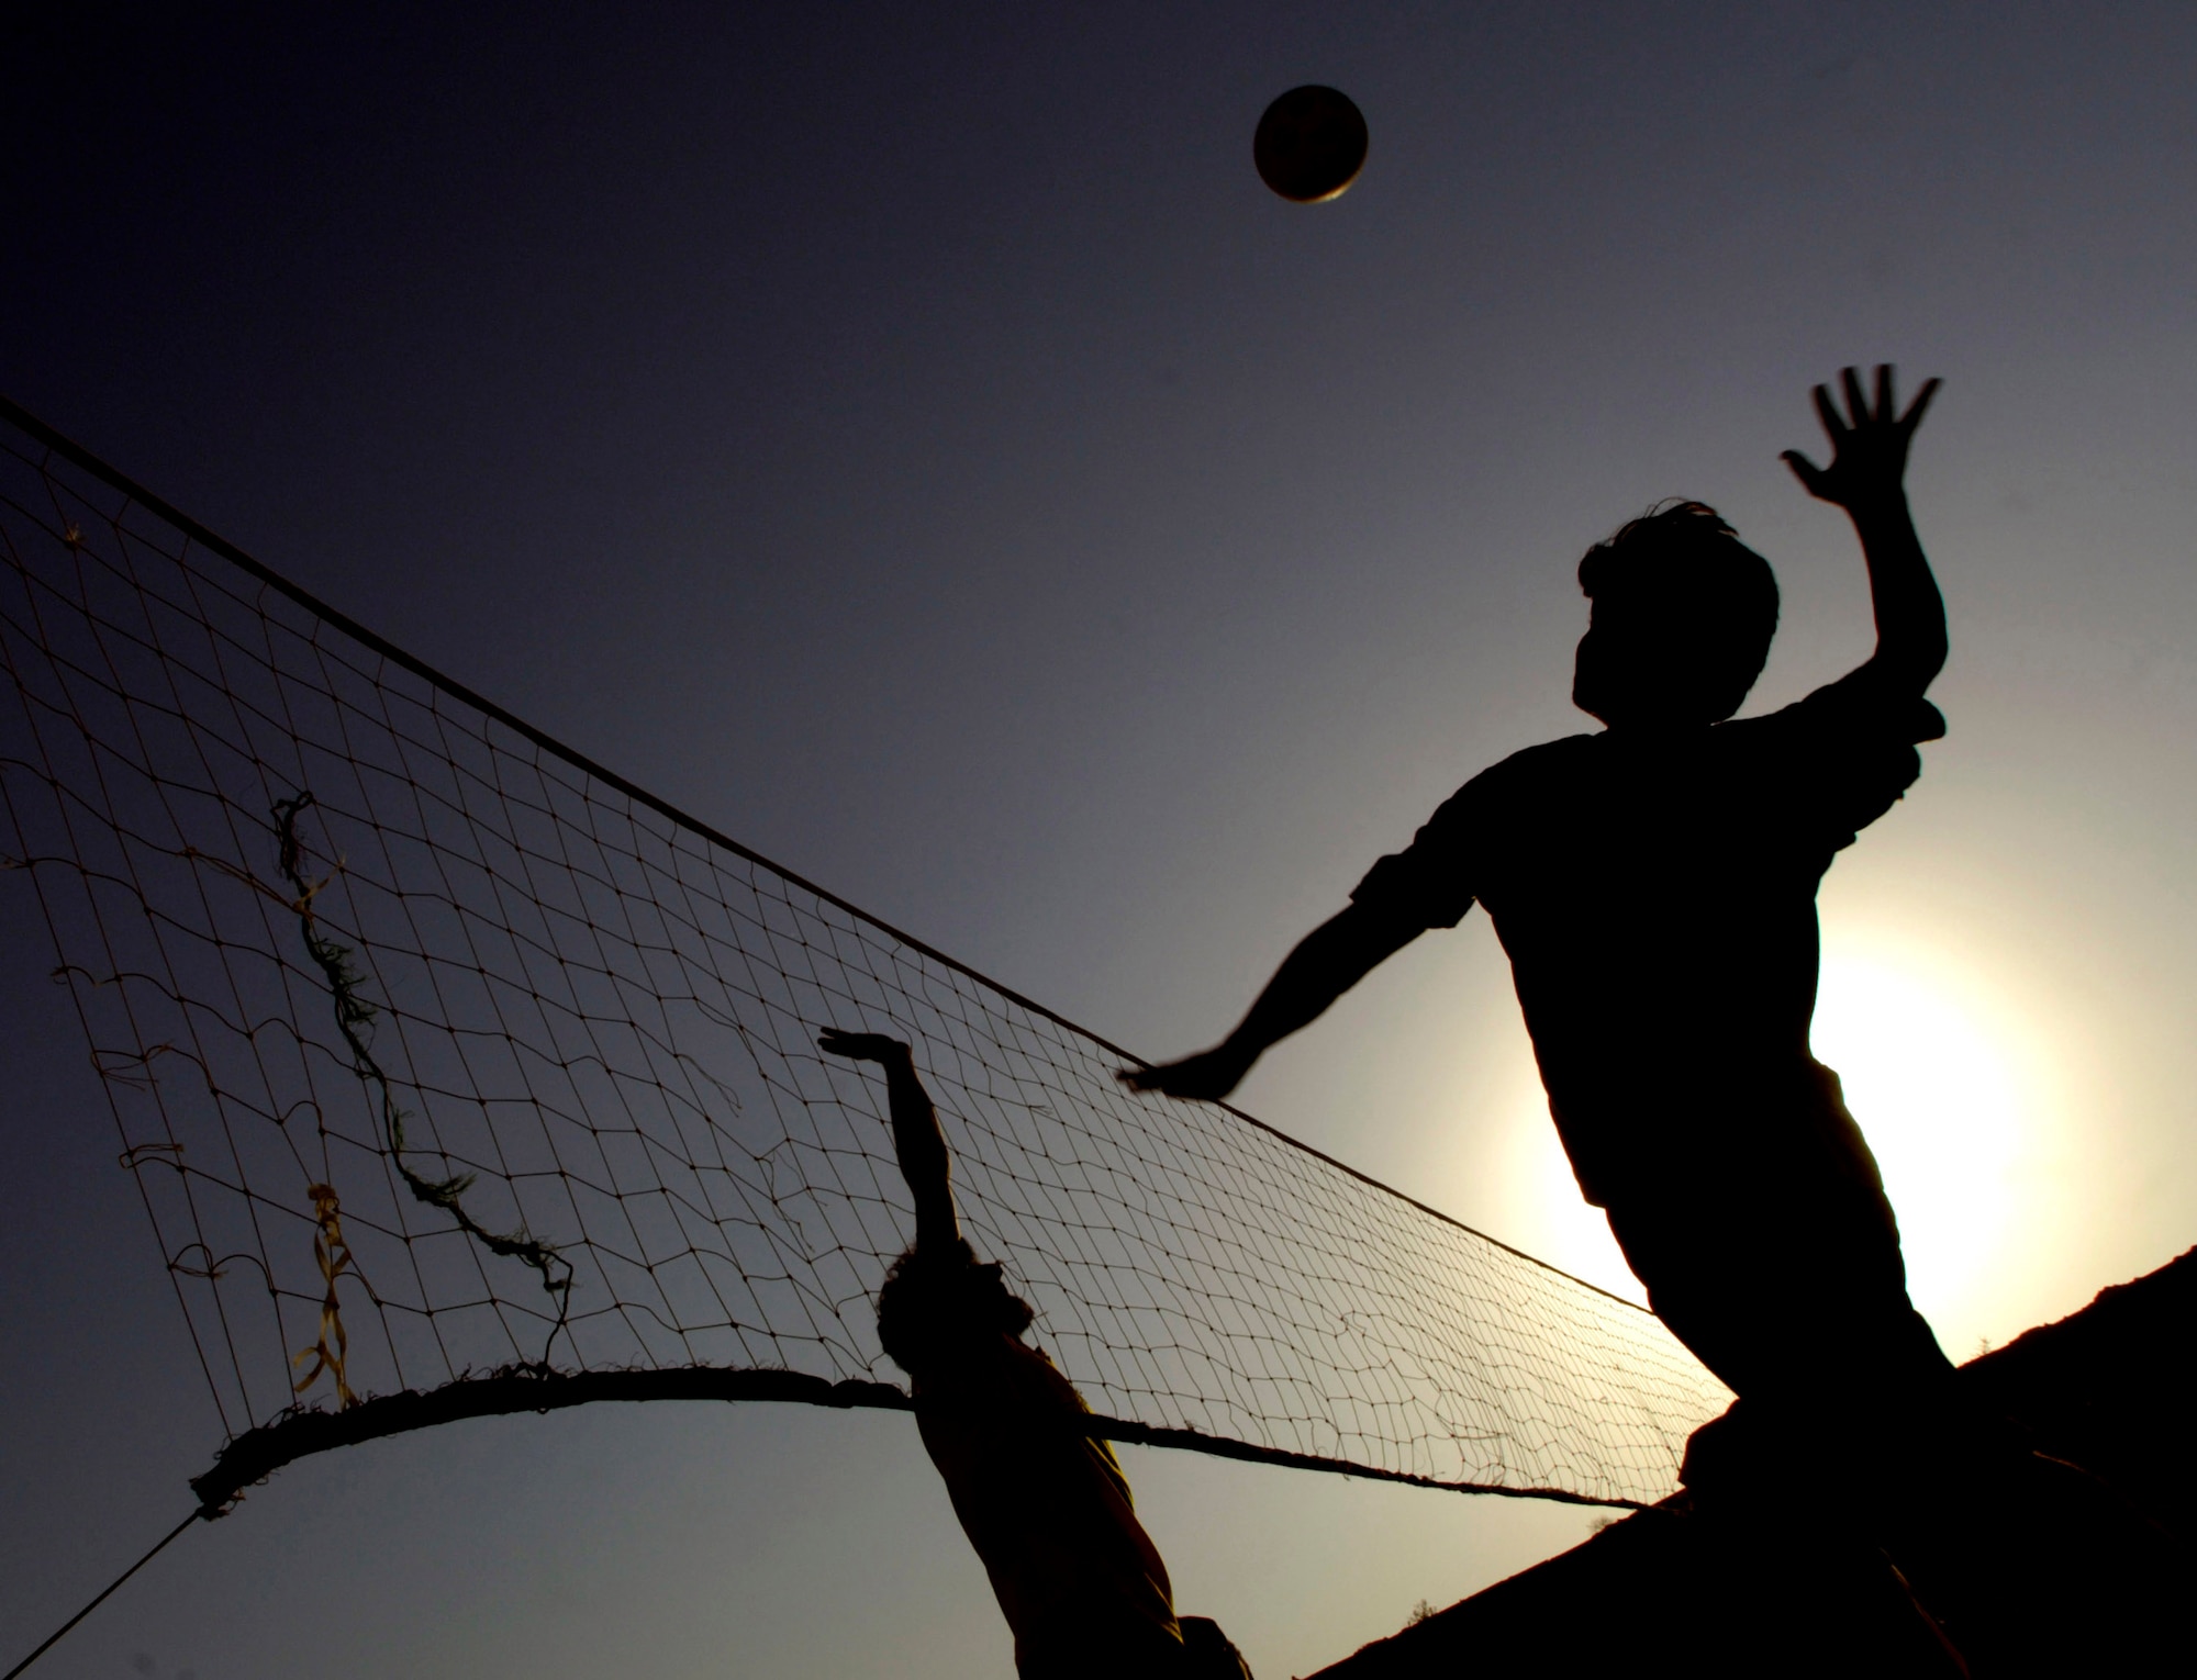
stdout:
POLYGON ((1810 496, 1834 503, 1854 520, 1861 553, 1870 562, 1870 597, 1876 604, 1876 654, 1861 668, 1885 687, 1922 696, 1931 679, 1944 670, 1944 600, 1922 540, 1907 514, 1907 446, 1938 380, 1925 380, 1916 400, 1900 413, 1892 397, 1892 367, 1876 369, 1876 400, 1861 391, 1861 376, 1845 369, 1845 413, 1826 387, 1815 387, 1815 411, 1830 437, 1830 466, 1819 468, 1799 450, 1786 450, 1810 496))

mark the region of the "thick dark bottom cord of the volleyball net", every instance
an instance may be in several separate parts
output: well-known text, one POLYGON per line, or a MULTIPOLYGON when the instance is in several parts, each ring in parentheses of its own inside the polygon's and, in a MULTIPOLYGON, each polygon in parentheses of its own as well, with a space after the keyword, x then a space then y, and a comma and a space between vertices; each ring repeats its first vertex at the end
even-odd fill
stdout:
MULTIPOLYGON (((409 1430, 431 1430, 468 1416, 503 1416, 512 1412, 560 1412, 595 1401, 793 1401, 830 1405, 835 1410, 870 1408, 879 1412, 914 1412, 916 1401, 901 1388, 879 1381, 826 1381, 800 1370, 721 1370, 716 1366, 677 1366, 672 1370, 499 1370, 488 1377, 461 1377, 428 1390, 402 1390, 356 1401, 341 1412, 290 1412, 275 1423, 246 1430, 213 1460, 213 1469, 191 1478, 198 1515, 222 1517, 253 1482, 264 1482, 283 1465, 316 1452, 352 1447, 409 1430)), ((1562 1487, 1509 1487, 1498 1482, 1446 1482, 1435 1476, 1413 1476, 1402 1469, 1353 1465, 1345 1458, 1323 1458, 1309 1452, 1259 1447, 1248 1441, 1171 1430, 1151 1423, 1090 1414, 1085 1432, 1098 1441, 1131 1447, 1175 1447, 1213 1458, 1237 1458, 1250 1465, 1283 1465, 1356 1476, 1369 1482, 1402 1482, 1448 1493, 1494 1493, 1507 1500, 1553 1500, 1558 1504, 1593 1504, 1615 1511, 1643 1511, 1641 1500, 1593 1498, 1562 1487)))

